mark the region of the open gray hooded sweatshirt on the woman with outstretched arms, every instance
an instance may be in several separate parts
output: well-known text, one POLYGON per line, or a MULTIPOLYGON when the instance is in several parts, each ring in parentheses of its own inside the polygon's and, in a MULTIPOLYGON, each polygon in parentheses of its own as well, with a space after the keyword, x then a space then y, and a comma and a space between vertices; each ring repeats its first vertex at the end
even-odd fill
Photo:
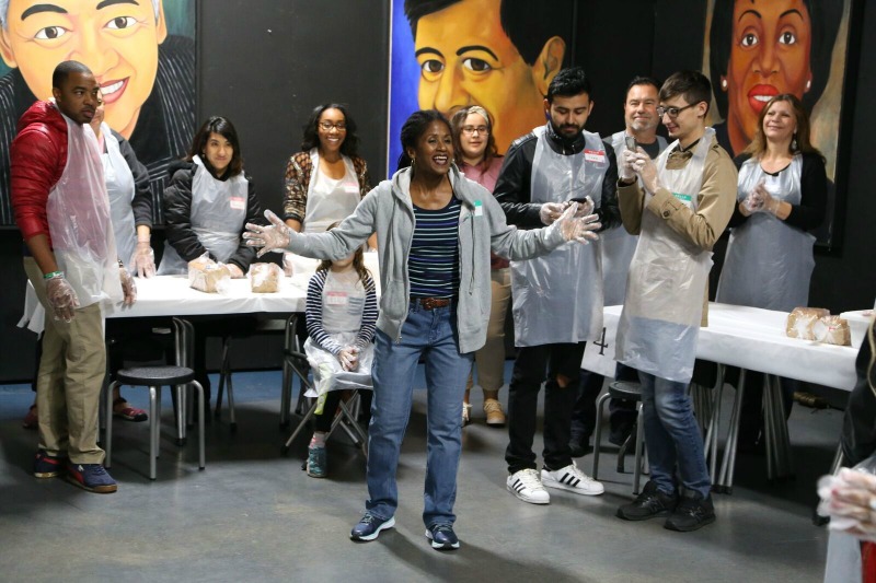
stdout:
MULTIPOLYGON (((459 303, 457 329, 459 351, 473 352, 484 346, 489 320, 489 252, 511 260, 546 255, 563 245, 560 229, 551 226, 519 231, 505 222, 505 212, 483 186, 451 166, 453 196, 462 203, 459 214, 459 303)), ((407 256, 414 241, 414 207, 408 187, 410 168, 382 180, 356 207, 356 211, 325 233, 291 232, 288 250, 316 259, 349 257, 372 233, 377 233, 380 264, 380 316, 377 327, 395 341, 411 302, 407 256)), ((579 243, 569 243, 579 245, 579 243)))

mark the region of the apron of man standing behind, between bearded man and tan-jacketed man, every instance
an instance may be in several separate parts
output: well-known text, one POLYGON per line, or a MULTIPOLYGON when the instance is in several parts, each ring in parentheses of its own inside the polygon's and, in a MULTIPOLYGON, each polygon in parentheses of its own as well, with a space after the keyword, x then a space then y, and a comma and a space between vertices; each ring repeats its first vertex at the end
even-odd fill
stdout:
MULTIPOLYGON (((611 136, 611 147, 614 149, 614 156, 618 165, 623 163, 623 152, 626 150, 624 137, 626 131, 619 131, 611 136)), ((666 150, 666 140, 658 136, 659 151, 666 150)), ((637 235, 631 235, 623 225, 609 229, 599 233, 602 243, 602 293, 606 305, 619 305, 623 303, 626 294, 626 273, 630 271, 630 261, 633 260, 633 253, 638 243, 637 235)))

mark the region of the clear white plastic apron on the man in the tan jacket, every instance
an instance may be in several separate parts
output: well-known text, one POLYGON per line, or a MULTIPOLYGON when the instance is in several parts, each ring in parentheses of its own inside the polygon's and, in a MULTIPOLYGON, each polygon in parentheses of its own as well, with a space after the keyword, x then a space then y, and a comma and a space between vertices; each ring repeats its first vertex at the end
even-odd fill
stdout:
MULTIPOLYGON (((660 185, 693 212, 714 135, 712 128, 706 128, 683 168, 666 168, 678 140, 657 158, 660 185)), ((645 194, 645 207, 652 198, 645 194)), ((618 323, 616 360, 660 378, 690 382, 711 268, 712 252, 682 240, 662 219, 645 209, 618 323)))

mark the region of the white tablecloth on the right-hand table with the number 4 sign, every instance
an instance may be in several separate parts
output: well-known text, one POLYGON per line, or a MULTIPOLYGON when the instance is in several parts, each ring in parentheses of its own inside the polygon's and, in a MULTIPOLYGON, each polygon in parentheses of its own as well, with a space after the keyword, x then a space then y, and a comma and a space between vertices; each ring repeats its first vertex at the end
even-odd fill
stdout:
MULTIPOLYGON (((586 368, 600 374, 614 370, 614 333, 622 307, 604 310, 606 341, 588 342, 586 368)), ((710 303, 708 326, 700 328, 696 358, 851 390, 857 350, 788 338, 786 318, 786 312, 710 303)))

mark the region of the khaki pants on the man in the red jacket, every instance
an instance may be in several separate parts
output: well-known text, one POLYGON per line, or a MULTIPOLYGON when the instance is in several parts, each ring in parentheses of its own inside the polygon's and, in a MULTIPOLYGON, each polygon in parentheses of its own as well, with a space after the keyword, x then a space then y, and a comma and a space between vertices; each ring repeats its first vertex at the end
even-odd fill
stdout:
POLYGON ((46 310, 43 357, 36 378, 39 448, 74 464, 100 464, 97 415, 106 373, 106 347, 100 304, 76 311, 70 323, 56 320, 46 299, 43 273, 32 257, 24 271, 46 310))

